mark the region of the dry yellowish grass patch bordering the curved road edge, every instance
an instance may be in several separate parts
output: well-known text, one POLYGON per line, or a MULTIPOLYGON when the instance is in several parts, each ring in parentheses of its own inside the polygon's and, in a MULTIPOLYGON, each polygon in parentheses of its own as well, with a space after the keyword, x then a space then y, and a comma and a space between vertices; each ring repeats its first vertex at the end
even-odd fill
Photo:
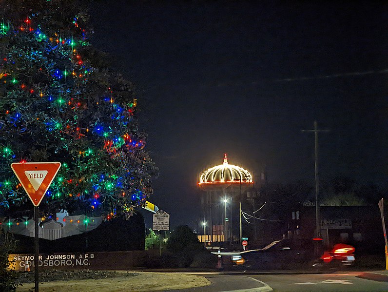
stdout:
MULTIPOLYGON (((204 277, 180 273, 120 273, 113 278, 39 282, 40 292, 149 292, 210 285, 204 277), (134 275, 136 273, 136 275, 134 275), (126 275, 127 274, 127 275, 126 275)), ((27 292, 34 283, 24 283, 17 292, 27 292)))

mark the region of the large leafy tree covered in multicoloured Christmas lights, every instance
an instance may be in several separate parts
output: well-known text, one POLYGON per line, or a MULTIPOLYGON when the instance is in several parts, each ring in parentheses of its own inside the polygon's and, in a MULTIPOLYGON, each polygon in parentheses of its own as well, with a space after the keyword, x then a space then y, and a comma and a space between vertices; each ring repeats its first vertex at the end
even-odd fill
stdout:
POLYGON ((157 169, 132 85, 92 48, 79 4, 0 2, 0 204, 31 204, 11 163, 59 161, 39 209, 127 217, 153 193, 157 169))

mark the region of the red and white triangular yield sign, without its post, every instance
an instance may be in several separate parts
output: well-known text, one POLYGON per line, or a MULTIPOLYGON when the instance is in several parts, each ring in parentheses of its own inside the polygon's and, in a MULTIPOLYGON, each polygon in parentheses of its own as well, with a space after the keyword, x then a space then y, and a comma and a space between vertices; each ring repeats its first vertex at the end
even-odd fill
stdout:
POLYGON ((31 202, 34 206, 39 206, 58 173, 60 162, 12 163, 11 168, 31 202))

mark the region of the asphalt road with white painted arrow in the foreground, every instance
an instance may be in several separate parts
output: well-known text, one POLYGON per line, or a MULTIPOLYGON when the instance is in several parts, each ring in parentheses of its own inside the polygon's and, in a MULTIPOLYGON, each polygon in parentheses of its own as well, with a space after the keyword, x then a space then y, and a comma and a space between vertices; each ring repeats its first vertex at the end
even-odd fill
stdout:
MULTIPOLYGON (((196 273, 204 276, 212 285, 184 292, 387 292, 388 282, 358 278, 359 272, 323 274, 279 274, 279 273, 196 273)), ((178 291, 178 290, 176 290, 178 291)))

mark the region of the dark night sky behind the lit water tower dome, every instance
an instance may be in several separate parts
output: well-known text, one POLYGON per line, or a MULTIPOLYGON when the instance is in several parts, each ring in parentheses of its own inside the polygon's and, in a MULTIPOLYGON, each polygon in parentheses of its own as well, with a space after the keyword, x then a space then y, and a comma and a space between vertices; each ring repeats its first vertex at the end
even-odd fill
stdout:
POLYGON ((314 136, 301 130, 314 120, 330 129, 321 181, 386 183, 388 4, 335 2, 92 5, 92 44, 135 85, 160 169, 150 201, 172 227, 201 216, 198 176, 224 153, 269 182, 312 185, 314 136))

